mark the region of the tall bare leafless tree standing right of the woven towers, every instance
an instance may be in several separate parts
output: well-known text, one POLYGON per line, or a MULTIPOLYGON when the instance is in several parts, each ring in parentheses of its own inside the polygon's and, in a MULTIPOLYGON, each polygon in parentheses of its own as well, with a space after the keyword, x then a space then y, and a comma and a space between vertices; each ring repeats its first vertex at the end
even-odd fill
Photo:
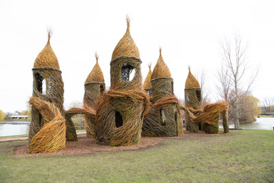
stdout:
MULTIPOLYGON (((245 96, 249 92, 249 89, 251 88, 253 82, 258 75, 258 70, 255 72, 254 75, 251 75, 251 77, 249 77, 249 82, 247 82, 246 84, 242 84, 243 76, 246 74, 247 71, 247 44, 242 43, 242 38, 238 34, 235 34, 233 40, 228 40, 227 38, 224 38, 224 40, 221 40, 220 45, 221 56, 223 58, 223 74, 226 75, 225 77, 227 77, 227 79, 229 80, 229 90, 234 91, 234 105, 230 106, 235 114, 234 125, 236 129, 240 129, 239 103, 242 100, 242 96, 245 96), (240 93, 240 91, 244 92, 240 93)), ((221 78, 219 77, 221 83, 224 82, 222 80, 223 74, 221 73, 221 78)), ((223 85, 227 86, 227 84, 222 83, 222 86, 220 88, 223 88, 223 85)), ((225 89, 223 91, 226 92, 227 90, 225 89)), ((227 97, 228 93, 223 94, 225 94, 225 96, 227 97)))

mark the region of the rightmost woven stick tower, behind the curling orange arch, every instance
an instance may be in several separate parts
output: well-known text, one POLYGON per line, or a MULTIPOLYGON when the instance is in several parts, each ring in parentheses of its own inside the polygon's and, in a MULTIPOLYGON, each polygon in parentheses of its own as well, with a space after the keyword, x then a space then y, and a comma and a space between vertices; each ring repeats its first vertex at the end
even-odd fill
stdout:
MULTIPOLYGON (((201 109, 201 87, 194 75, 190 72, 190 67, 188 67, 188 77, 186 78, 184 97, 187 108, 192 108, 194 110, 201 109)), ((199 132, 199 125, 201 125, 201 123, 194 123, 188 116, 185 117, 185 121, 186 130, 194 133, 199 132)))

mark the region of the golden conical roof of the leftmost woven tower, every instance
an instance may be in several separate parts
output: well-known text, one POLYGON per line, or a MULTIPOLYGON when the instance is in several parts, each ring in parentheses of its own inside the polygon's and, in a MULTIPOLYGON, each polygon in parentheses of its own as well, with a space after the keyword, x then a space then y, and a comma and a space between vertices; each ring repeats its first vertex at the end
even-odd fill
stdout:
POLYGON ((42 51, 36 57, 36 60, 34 62, 34 68, 49 66, 54 69, 60 70, 58 59, 56 58, 55 53, 53 52, 51 48, 51 44, 50 44, 51 35, 52 35, 51 30, 48 30, 49 38, 47 40, 47 45, 44 47, 44 49, 42 49, 42 51))

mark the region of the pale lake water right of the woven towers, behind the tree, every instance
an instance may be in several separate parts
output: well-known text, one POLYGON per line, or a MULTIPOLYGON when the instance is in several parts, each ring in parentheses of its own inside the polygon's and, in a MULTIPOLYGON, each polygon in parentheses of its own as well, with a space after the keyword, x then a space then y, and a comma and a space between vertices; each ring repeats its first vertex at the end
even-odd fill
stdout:
MULTIPOLYGON (((223 128, 223 125, 219 125, 223 128)), ((240 124, 242 129, 255 129, 255 130, 273 130, 274 118, 273 117, 261 117, 256 122, 240 124)), ((230 124, 229 128, 234 128, 234 124, 230 124)))

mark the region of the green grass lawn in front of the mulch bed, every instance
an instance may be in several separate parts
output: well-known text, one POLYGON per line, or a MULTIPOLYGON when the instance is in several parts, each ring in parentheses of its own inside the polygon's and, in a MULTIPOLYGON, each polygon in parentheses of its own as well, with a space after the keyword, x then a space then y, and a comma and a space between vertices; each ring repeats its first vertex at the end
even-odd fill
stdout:
POLYGON ((0 143, 0 182, 274 182, 274 131, 173 138, 138 151, 12 157, 0 143))

